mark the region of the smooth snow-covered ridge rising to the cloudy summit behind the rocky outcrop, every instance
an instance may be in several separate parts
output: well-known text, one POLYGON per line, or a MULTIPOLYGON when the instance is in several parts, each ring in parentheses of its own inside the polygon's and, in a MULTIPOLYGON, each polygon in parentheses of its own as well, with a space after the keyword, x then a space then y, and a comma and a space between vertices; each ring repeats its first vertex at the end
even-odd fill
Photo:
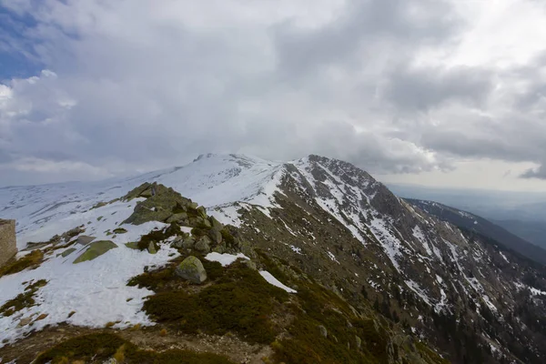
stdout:
POLYGON ((240 155, 205 155, 184 167, 136 177, 0 188, 0 218, 15 218, 18 248, 25 248, 29 241, 46 241, 86 223, 82 214, 91 207, 122 197, 144 182, 173 187, 207 208, 238 201, 269 207, 282 174, 278 162, 240 155))

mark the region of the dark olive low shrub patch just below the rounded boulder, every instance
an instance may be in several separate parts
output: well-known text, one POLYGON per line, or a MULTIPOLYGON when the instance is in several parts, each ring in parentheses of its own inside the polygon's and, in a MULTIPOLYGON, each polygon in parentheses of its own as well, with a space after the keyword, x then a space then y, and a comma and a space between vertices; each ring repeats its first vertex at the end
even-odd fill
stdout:
POLYGON ((249 342, 269 344, 278 333, 270 315, 276 302, 287 299, 287 292, 269 285, 258 271, 234 263, 217 284, 194 295, 182 290, 158 293, 147 299, 144 309, 187 333, 223 335, 233 330, 249 342))

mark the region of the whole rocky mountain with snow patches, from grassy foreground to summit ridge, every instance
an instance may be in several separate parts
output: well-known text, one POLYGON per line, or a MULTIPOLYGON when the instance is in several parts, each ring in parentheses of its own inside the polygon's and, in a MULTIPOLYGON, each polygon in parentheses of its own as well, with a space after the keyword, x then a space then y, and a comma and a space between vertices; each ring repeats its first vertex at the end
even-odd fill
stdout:
POLYGON ((7 361, 546 359, 543 266, 336 159, 206 155, 0 206, 25 249, 0 268, 7 361))

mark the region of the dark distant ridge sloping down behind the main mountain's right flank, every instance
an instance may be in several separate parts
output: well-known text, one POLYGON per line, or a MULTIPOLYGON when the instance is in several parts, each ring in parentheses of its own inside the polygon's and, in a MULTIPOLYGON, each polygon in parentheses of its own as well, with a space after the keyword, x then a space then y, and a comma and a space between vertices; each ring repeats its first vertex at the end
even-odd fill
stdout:
POLYGON ((483 217, 454 207, 445 206, 438 202, 411 198, 406 198, 406 201, 412 206, 419 207, 430 215, 440 218, 442 221, 448 221, 457 227, 474 231, 485 237, 496 240, 504 247, 511 248, 524 257, 531 258, 532 260, 546 265, 546 250, 531 244, 529 241, 512 234, 507 229, 496 225, 483 217))

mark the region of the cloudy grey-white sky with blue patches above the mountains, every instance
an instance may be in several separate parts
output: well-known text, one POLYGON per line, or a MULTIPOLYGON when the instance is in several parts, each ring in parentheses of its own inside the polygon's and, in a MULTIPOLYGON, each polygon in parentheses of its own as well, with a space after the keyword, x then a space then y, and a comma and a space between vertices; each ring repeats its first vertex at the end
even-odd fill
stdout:
POLYGON ((202 153, 546 191, 544 0, 0 0, 0 186, 202 153))

